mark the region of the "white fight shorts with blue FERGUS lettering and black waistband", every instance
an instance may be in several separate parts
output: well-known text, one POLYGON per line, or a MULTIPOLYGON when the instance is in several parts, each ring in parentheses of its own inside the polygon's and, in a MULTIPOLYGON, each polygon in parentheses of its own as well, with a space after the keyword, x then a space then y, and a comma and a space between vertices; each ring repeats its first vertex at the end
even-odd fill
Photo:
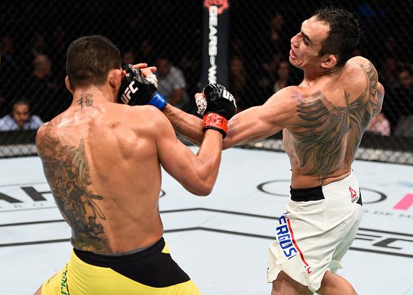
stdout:
POLYGON ((353 172, 325 186, 291 189, 286 213, 275 227, 276 241, 268 249, 268 282, 284 271, 316 292, 327 269, 343 268, 341 259, 361 219, 362 196, 353 172))

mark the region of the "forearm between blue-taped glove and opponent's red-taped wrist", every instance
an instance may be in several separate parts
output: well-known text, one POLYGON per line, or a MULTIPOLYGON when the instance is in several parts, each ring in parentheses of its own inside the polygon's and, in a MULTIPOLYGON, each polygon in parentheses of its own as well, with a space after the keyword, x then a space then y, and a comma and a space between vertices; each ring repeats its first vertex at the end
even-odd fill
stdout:
POLYGON ((167 104, 163 113, 170 120, 173 127, 191 143, 200 146, 204 139, 202 131, 202 120, 180 109, 167 104))

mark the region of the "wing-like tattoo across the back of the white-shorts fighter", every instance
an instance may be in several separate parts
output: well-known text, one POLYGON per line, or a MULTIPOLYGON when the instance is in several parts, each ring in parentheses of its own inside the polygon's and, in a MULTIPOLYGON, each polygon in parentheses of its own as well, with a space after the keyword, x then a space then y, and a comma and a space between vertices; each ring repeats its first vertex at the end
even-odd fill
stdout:
POLYGON ((354 159, 364 130, 377 109, 377 72, 371 63, 360 67, 366 77, 366 88, 353 102, 349 102, 350 95, 344 91, 346 106, 334 106, 321 91, 317 91, 309 102, 297 105, 298 116, 304 122, 295 124, 300 131, 291 131, 295 137, 295 150, 301 167, 309 159, 314 163, 306 175, 317 175, 319 185, 323 185, 329 173, 341 164, 349 131, 355 134, 354 138, 349 138, 354 159))

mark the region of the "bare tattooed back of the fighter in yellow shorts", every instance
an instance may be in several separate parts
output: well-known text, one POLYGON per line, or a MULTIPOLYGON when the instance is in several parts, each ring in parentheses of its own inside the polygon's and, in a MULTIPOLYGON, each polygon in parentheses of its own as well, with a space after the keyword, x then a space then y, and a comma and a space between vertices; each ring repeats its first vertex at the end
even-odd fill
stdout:
POLYGON ((161 168, 152 106, 114 104, 85 92, 38 131, 44 173, 72 244, 117 253, 159 240, 161 168))

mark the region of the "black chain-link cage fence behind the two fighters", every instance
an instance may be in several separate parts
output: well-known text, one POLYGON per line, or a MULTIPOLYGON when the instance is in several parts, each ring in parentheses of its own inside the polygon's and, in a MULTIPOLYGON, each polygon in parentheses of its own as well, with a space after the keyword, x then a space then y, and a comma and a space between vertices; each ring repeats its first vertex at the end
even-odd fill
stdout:
MULTIPOLYGON (((92 34, 105 35, 118 45, 124 63, 175 67, 177 85, 184 89, 183 108, 195 113, 192 97, 204 86, 200 77, 202 52, 207 50, 202 18, 206 4, 225 6, 229 15, 227 86, 241 110, 300 83, 302 72, 289 65, 288 54, 290 39, 303 20, 322 6, 355 12, 364 33, 354 54, 372 61, 386 89, 382 113, 364 135, 357 159, 413 164, 410 0, 1 1, 1 124, 10 126, 16 109, 22 113, 22 108, 13 107, 22 99, 44 122, 67 109, 71 96, 64 83, 66 50, 72 40, 92 34)), ((0 157, 36 154, 36 123, 24 127, 31 131, 0 132, 0 157)), ((282 150, 280 139, 276 134, 248 147, 282 150)))

